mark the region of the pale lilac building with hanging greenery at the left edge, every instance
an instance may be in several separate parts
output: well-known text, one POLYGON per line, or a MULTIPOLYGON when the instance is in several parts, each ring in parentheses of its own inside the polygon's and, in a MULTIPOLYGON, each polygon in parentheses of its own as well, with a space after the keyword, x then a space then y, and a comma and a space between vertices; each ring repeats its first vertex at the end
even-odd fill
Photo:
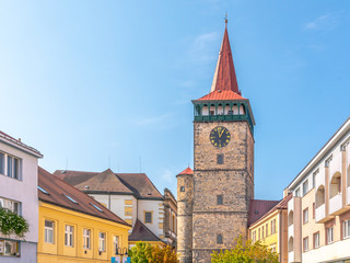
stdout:
POLYGON ((0 262, 34 263, 38 239, 37 161, 42 153, 0 132, 0 207, 23 216, 24 238, 0 232, 0 262))

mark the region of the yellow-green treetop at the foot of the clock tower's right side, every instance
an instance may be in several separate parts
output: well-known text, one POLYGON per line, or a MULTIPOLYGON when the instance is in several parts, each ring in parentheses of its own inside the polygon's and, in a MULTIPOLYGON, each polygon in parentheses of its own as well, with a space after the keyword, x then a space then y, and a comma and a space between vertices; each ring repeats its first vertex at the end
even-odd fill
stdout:
POLYGON ((243 238, 237 239, 237 244, 233 250, 214 252, 211 254, 212 263, 278 263, 278 254, 272 252, 267 245, 259 241, 253 243, 252 240, 243 242, 243 238))

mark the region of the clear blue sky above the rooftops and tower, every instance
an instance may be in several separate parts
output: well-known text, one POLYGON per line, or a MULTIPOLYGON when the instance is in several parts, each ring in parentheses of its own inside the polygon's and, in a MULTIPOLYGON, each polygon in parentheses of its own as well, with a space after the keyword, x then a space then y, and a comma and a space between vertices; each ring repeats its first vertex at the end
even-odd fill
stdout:
POLYGON ((257 124, 255 197, 281 198, 350 113, 347 0, 0 1, 0 129, 50 172, 141 167, 175 193, 225 12, 257 124))

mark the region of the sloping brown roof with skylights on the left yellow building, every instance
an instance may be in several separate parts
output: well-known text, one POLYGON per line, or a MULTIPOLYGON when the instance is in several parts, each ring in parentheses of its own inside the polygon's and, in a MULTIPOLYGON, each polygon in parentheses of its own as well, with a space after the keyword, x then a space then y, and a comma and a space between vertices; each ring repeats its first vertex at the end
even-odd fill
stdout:
POLYGON ((130 226, 94 198, 50 174, 43 168, 38 168, 38 186, 48 193, 46 194, 38 190, 38 198, 42 202, 130 226), (93 205, 98 207, 100 210, 93 205))

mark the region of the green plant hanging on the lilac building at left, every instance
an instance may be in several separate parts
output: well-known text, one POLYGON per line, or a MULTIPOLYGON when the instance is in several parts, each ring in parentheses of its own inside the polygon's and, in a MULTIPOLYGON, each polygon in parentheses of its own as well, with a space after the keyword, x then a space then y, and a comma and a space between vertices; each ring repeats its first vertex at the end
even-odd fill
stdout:
POLYGON ((22 216, 9 209, 0 208, 0 232, 3 235, 14 233, 23 238, 28 230, 28 224, 22 216))

